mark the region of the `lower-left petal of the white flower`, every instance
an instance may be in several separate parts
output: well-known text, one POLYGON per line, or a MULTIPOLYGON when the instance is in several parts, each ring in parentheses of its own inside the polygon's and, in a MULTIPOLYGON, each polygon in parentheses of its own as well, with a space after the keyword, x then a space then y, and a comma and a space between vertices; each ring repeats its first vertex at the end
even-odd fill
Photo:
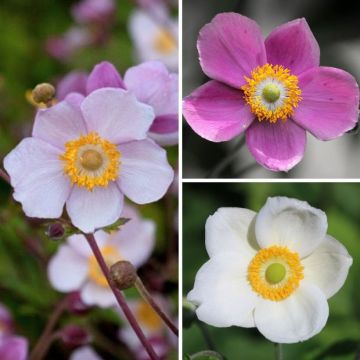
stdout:
POLYGON ((241 254, 227 253, 212 257, 200 268, 194 288, 187 295, 199 305, 199 320, 217 327, 254 327, 250 315, 258 296, 246 277, 248 264, 241 254))

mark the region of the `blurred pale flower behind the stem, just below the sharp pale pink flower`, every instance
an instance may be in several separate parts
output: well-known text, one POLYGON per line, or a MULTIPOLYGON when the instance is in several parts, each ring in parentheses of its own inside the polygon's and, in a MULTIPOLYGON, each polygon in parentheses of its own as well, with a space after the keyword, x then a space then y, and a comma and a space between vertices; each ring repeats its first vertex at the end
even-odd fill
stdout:
MULTIPOLYGON (((131 219, 119 231, 95 232, 96 242, 109 266, 128 260, 136 268, 150 257, 155 245, 155 226, 142 219, 135 208, 126 206, 122 216, 131 219)), ((109 307, 116 299, 109 288, 90 246, 83 235, 73 235, 61 245, 49 262, 48 276, 55 289, 62 292, 80 290, 87 305, 109 307)))

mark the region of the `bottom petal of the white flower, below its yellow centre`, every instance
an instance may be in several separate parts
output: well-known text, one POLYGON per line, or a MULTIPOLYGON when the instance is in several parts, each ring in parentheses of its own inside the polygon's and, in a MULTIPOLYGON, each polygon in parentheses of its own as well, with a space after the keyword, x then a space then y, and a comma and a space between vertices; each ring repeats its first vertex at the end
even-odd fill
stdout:
POLYGON ((255 325, 275 343, 296 343, 318 334, 329 316, 324 293, 302 281, 294 294, 282 301, 262 300, 255 308, 255 325))

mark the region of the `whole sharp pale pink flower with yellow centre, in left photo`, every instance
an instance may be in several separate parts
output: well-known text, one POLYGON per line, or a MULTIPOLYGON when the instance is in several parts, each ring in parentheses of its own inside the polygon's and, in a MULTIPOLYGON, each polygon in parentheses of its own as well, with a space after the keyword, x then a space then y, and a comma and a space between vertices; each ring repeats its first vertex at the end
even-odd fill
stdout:
POLYGON ((4 160, 14 198, 36 218, 59 218, 66 204, 86 233, 118 220, 124 194, 137 204, 159 200, 173 170, 147 136, 153 120, 150 106, 112 88, 39 110, 32 137, 4 160))

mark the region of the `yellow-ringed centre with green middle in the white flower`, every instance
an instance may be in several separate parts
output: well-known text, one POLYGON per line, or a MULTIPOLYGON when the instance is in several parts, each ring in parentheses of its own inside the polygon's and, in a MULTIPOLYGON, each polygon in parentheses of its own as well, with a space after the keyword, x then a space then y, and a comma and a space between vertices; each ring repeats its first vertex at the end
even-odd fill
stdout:
POLYGON ((248 280, 264 299, 281 301, 299 287, 303 270, 299 254, 274 245, 261 249, 251 260, 248 280))

